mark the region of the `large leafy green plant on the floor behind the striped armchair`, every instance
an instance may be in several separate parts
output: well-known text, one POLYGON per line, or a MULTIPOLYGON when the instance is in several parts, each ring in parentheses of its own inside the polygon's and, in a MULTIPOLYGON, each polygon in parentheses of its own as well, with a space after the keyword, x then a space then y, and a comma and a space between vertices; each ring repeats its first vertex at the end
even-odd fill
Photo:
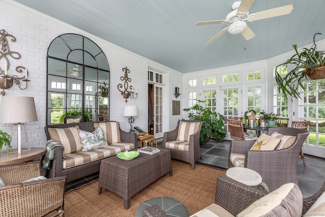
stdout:
MULTIPOLYGON (((204 101, 197 100, 199 103, 204 101)), ((204 144, 207 140, 213 136, 218 141, 223 141, 226 133, 224 132, 224 116, 211 111, 209 108, 205 108, 199 104, 194 105, 191 108, 184 108, 183 111, 189 112, 188 118, 194 118, 194 120, 201 120, 202 127, 200 132, 200 144, 204 144)))

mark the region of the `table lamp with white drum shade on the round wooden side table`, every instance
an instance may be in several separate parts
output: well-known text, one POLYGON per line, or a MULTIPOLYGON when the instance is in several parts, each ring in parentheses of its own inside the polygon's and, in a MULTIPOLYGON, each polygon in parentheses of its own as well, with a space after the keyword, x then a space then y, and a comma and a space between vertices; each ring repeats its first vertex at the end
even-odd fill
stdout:
MULTIPOLYGON (((28 149, 30 150, 29 140, 25 123, 37 121, 37 114, 35 108, 34 98, 32 97, 2 97, 0 102, 0 122, 1 123, 14 123, 11 132, 14 133, 17 126, 17 152, 21 153, 21 126, 24 127, 28 149)), ((10 142, 11 142, 10 140, 10 142)), ((23 150, 25 151, 25 150, 23 150)), ((14 152, 12 152, 14 153, 14 152)))

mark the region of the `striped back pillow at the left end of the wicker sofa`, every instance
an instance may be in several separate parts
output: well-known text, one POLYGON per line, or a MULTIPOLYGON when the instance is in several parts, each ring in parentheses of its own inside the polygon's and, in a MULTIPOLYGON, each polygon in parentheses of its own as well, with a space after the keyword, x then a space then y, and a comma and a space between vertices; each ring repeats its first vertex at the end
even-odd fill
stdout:
POLYGON ((81 151, 82 143, 76 128, 49 128, 48 133, 52 140, 64 146, 64 155, 81 151))

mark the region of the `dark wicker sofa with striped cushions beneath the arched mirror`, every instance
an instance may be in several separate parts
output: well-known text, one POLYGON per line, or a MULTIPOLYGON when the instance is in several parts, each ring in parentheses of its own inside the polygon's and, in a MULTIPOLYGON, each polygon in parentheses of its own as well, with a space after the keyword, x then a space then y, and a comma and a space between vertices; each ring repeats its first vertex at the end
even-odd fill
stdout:
POLYGON ((47 177, 67 176, 66 182, 100 171, 101 161, 119 152, 138 148, 137 135, 124 132, 116 121, 64 123, 45 127, 47 140, 55 140, 62 145, 55 146, 55 158, 47 170, 47 177), (82 151, 78 130, 93 132, 103 130, 106 147, 82 151))

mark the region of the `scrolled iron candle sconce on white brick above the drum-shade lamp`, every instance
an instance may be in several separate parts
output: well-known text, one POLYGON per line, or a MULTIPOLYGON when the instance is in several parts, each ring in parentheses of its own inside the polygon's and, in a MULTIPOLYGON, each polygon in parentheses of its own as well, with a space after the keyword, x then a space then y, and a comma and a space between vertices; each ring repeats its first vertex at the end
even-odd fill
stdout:
POLYGON ((11 75, 11 76, 8 75, 7 71, 10 68, 10 61, 8 59, 8 56, 10 56, 10 57, 12 57, 14 59, 20 59, 21 55, 16 51, 10 51, 7 37, 8 36, 12 37, 11 41, 15 42, 16 38, 13 35, 8 34, 5 29, 0 30, 0 35, 1 35, 1 37, 0 37, 0 42, 1 42, 1 51, 0 51, 0 57, 1 58, 0 58, 0 60, 2 58, 5 58, 5 67, 4 67, 4 69, 0 68, 0 75, 2 75, 1 78, 0 78, 0 88, 3 89, 3 91, 1 91, 1 95, 5 96, 6 95, 5 89, 11 88, 13 86, 14 82, 15 82, 15 84, 18 85, 18 87, 20 89, 26 89, 27 88, 27 82, 30 81, 30 80, 27 79, 28 71, 23 66, 17 66, 16 67, 16 72, 23 73, 23 71, 25 71, 24 76, 19 77, 18 75, 11 75), (25 81, 25 83, 26 83, 26 86, 24 88, 22 88, 20 86, 21 81, 25 81))

